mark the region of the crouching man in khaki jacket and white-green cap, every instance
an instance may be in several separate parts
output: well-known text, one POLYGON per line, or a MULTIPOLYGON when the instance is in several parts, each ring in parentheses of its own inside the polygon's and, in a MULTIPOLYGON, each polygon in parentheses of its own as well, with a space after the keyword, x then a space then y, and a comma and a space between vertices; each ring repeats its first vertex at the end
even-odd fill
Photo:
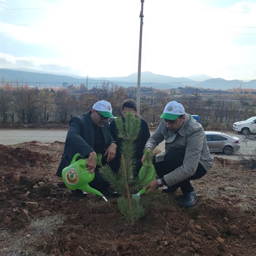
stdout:
MULTIPOLYGON (((154 134, 147 140, 145 148, 154 148, 165 140, 165 151, 153 159, 160 179, 148 183, 147 193, 162 187, 163 193, 182 190, 180 205, 194 205, 197 196, 190 180, 203 177, 213 166, 203 127, 191 115, 185 113, 183 105, 170 101, 166 104, 162 121, 154 134)), ((144 156, 142 162, 144 162, 144 156)))

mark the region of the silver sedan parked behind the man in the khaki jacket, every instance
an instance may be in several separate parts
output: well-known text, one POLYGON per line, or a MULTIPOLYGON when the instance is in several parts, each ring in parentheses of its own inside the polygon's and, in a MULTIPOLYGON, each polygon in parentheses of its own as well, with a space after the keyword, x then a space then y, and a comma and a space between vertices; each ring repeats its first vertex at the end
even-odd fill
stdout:
POLYGON ((222 152, 231 155, 240 150, 238 137, 229 136, 221 132, 205 132, 210 152, 222 152))

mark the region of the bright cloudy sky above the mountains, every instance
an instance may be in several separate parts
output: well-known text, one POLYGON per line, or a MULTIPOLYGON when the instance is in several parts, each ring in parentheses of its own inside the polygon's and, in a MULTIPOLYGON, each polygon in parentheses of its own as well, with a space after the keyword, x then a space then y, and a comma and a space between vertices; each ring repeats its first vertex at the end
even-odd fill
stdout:
MULTIPOLYGON (((138 71, 140 0, 0 0, 0 68, 138 71)), ((256 1, 145 0, 141 71, 256 79, 256 1)))

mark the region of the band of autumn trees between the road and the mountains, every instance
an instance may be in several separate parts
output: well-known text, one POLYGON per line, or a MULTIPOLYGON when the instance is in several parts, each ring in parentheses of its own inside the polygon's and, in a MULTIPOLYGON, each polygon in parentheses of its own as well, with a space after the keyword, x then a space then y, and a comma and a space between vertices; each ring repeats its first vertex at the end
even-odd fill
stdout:
MULTIPOLYGON (((0 120, 19 123, 63 123, 71 116, 84 114, 98 100, 111 102, 113 115, 120 115, 124 99, 136 100, 136 88, 124 88, 104 81, 101 86, 86 90, 72 88, 31 88, 27 85, 0 87, 0 120), (72 89, 72 90, 71 90, 72 89)), ((199 115, 204 126, 230 128, 234 121, 245 120, 255 115, 255 106, 243 105, 236 99, 204 98, 196 91, 192 94, 177 94, 176 90, 163 91, 142 89, 140 115, 150 125, 157 125, 167 102, 176 100, 184 105, 187 113, 199 115), (226 127, 225 127, 226 126, 226 127)), ((253 100, 252 100, 253 102, 253 100)), ((255 99, 254 99, 255 103, 255 99)))

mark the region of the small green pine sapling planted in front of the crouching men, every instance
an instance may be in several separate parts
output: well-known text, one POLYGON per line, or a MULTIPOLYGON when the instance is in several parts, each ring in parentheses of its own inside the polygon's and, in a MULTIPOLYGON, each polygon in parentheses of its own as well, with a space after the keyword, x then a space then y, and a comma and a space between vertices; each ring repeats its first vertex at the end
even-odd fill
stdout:
MULTIPOLYGON (((155 169, 152 164, 152 151, 145 152, 146 161, 138 174, 135 174, 135 140, 140 131, 141 119, 134 117, 133 112, 126 112, 124 121, 121 117, 115 119, 118 130, 118 137, 121 139, 121 158, 118 174, 114 174, 108 164, 100 168, 103 177, 110 183, 110 186, 121 195, 117 199, 117 205, 127 223, 134 222, 146 214, 145 201, 134 200, 132 194, 140 190, 155 177, 155 169)), ((135 194, 136 195, 136 194, 135 194)))

